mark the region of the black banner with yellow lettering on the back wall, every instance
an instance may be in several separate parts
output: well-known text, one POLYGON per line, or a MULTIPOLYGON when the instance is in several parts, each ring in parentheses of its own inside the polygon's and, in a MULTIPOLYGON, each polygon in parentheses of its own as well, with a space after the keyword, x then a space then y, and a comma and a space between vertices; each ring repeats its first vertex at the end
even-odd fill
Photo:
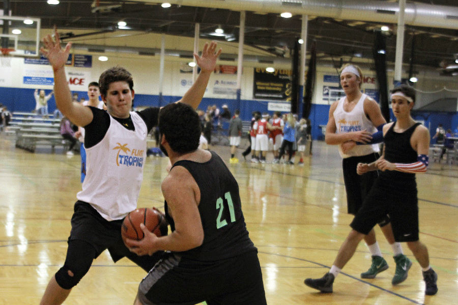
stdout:
POLYGON ((275 69, 271 73, 265 68, 254 68, 253 98, 290 100, 292 73, 287 69, 275 69))

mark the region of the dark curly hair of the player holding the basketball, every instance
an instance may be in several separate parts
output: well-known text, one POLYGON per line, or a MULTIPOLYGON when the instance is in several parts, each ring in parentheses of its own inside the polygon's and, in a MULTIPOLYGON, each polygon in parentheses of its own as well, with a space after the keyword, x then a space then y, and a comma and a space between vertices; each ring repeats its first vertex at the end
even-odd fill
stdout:
POLYGON ((173 103, 161 108, 158 128, 175 153, 191 153, 199 146, 201 121, 187 104, 173 103))

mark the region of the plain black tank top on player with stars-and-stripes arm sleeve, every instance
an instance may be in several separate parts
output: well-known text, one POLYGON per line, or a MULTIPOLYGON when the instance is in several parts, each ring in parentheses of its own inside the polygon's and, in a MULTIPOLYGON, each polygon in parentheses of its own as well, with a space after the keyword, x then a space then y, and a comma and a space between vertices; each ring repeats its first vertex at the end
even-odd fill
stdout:
MULTIPOLYGON (((394 123, 384 136, 385 160, 391 163, 415 163, 418 159, 417 152, 410 144, 410 138, 420 123, 414 124, 402 133, 395 132, 394 123)), ((395 180, 415 180, 415 174, 400 171, 384 171, 381 176, 395 180)))

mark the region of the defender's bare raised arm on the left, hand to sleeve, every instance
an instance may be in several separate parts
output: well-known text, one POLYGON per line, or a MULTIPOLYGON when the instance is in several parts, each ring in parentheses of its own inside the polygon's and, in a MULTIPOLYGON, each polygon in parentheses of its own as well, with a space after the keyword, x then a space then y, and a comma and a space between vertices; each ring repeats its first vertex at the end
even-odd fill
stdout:
POLYGON ((65 49, 62 49, 61 39, 57 30, 54 29, 54 37, 49 34, 46 35, 43 38, 43 45, 44 47, 40 48, 40 52, 48 58, 54 72, 54 97, 56 105, 62 114, 68 117, 73 124, 77 126, 88 125, 93 118, 92 111, 88 107, 72 102, 72 94, 65 74, 65 63, 70 53, 71 43, 68 43, 65 49))

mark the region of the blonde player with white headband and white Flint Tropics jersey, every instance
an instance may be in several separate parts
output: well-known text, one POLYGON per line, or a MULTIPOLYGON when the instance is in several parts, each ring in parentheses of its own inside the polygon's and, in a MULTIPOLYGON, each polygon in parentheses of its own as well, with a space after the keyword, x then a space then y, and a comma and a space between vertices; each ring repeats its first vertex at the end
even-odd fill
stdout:
MULTIPOLYGON (((379 174, 378 171, 371 171, 358 175, 356 167, 358 163, 371 163, 379 158, 380 149, 376 143, 383 141, 382 127, 386 124, 377 102, 361 93, 361 82, 361 69, 356 65, 345 65, 340 73, 340 84, 346 96, 331 105, 325 135, 327 144, 338 145, 348 214, 352 215, 356 215, 361 208, 379 174)), ((384 215, 378 219, 378 224, 394 253, 396 270, 392 284, 396 285, 406 280, 412 262, 403 254, 400 243, 395 242, 389 217, 384 215)), ((378 273, 388 269, 388 264, 382 256, 374 229, 364 236, 364 241, 372 256, 372 264, 366 272, 361 273, 361 278, 374 279, 378 273)), ((339 271, 338 267, 332 266, 334 277, 339 271)))

